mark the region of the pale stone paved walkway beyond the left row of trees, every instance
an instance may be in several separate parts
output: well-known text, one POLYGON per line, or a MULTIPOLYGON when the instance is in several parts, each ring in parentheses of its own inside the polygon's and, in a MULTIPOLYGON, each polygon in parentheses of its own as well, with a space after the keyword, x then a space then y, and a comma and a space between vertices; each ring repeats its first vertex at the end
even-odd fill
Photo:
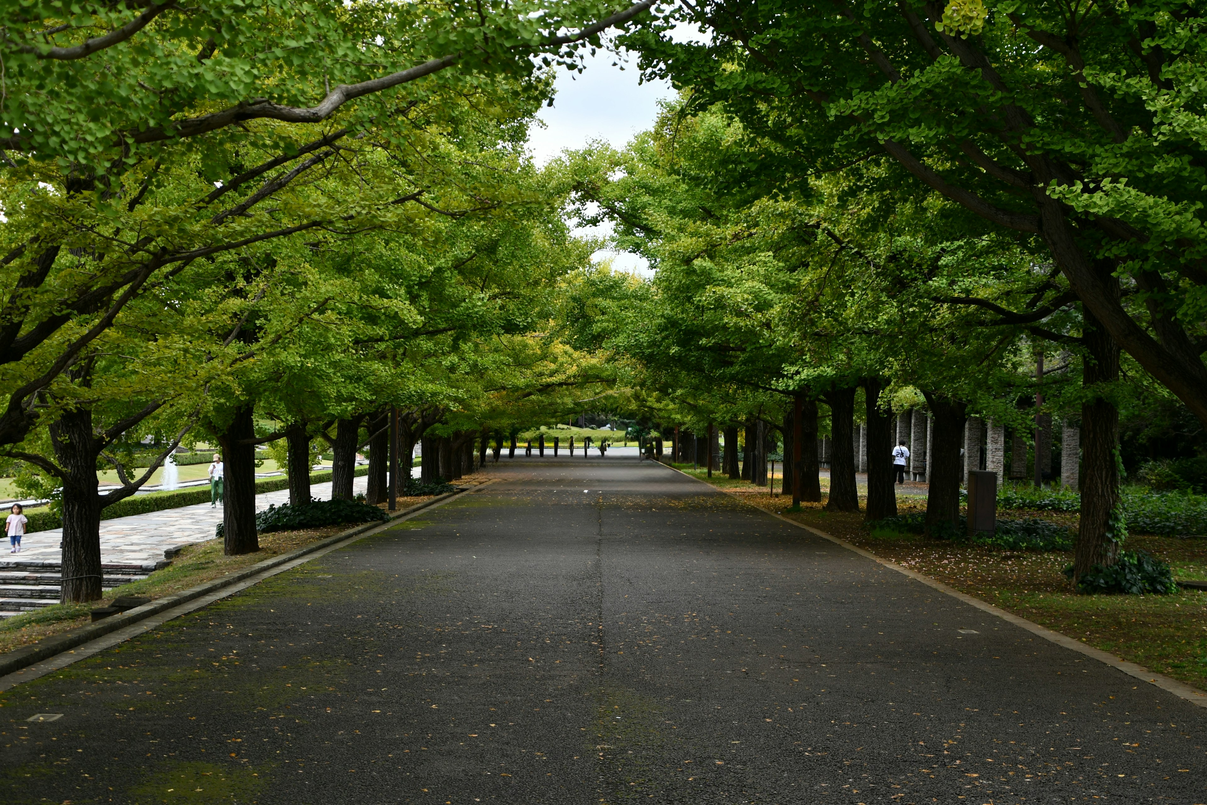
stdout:
MULTIPOLYGON (((354 494, 363 492, 367 484, 368 478, 357 478, 352 483, 354 494)), ((320 500, 330 498, 331 482, 315 484, 310 494, 320 500)), ((274 503, 280 506, 288 500, 287 489, 256 495, 256 511, 274 503)), ((106 565, 153 565, 163 559, 168 548, 212 539, 214 527, 221 521, 222 507, 209 503, 101 520, 100 560, 106 565)), ((27 533, 22 539, 22 552, 17 555, 0 553, 0 560, 19 560, 22 565, 58 565, 62 538, 63 529, 27 533)))

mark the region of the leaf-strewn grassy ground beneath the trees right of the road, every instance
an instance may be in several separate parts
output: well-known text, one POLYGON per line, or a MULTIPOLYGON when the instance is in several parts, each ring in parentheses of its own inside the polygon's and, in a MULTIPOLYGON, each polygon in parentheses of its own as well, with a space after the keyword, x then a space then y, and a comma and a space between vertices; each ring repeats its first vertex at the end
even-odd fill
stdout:
MULTIPOLYGON (((961 593, 1001 607, 1048 629, 1080 640, 1125 660, 1196 688, 1207 688, 1207 593, 1179 590, 1172 595, 1081 595, 1062 571, 1071 552, 1015 552, 976 544, 893 532, 876 538, 863 523, 863 512, 826 512, 823 503, 801 503, 798 513, 785 512, 792 503, 765 488, 729 478, 687 474, 734 492, 758 508, 803 523, 845 539, 903 567, 929 576, 961 593)), ((824 492, 824 490, 823 490, 824 492)), ((859 498, 861 506, 864 498, 859 498)), ((925 511, 926 498, 898 497, 902 514, 925 511)), ((1036 511, 1004 511, 1003 517, 1024 519, 1036 511)), ((1077 527, 1077 515, 1043 512, 1044 519, 1077 527)), ((1141 549, 1164 559, 1176 578, 1207 579, 1207 539, 1179 539, 1131 535, 1129 549, 1141 549)))

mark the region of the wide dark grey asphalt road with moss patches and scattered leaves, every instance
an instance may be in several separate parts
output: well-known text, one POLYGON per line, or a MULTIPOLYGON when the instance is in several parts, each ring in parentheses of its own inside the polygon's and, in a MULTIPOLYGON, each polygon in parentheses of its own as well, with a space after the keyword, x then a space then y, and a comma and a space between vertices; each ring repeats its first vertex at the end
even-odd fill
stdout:
POLYGON ((497 473, 4 694, 0 800, 1207 801, 1153 686, 658 465, 497 473))

